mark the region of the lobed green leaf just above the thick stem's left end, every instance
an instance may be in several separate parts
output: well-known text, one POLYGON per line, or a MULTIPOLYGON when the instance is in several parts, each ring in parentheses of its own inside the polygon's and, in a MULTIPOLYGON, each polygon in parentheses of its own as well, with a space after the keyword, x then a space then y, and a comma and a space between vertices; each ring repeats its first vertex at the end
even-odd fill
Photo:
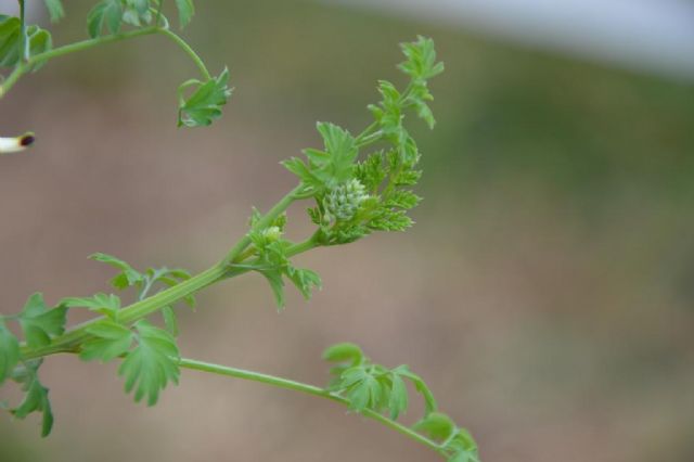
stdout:
POLYGON ((65 332, 65 316, 67 307, 64 305, 48 309, 43 295, 31 295, 18 316, 20 325, 24 331, 26 343, 31 348, 38 348, 51 343, 51 335, 65 332))

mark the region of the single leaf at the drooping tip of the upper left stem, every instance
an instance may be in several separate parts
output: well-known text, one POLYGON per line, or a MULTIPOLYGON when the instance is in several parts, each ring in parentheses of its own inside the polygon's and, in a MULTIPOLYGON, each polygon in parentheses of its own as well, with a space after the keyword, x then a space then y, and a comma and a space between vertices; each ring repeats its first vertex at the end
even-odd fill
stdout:
POLYGON ((218 77, 211 78, 206 82, 200 80, 188 80, 183 82, 178 90, 178 126, 208 126, 221 117, 221 106, 227 104, 232 92, 228 84, 229 69, 226 67, 218 77), (197 88, 193 93, 188 99, 184 98, 183 92, 189 87, 194 86, 197 88))

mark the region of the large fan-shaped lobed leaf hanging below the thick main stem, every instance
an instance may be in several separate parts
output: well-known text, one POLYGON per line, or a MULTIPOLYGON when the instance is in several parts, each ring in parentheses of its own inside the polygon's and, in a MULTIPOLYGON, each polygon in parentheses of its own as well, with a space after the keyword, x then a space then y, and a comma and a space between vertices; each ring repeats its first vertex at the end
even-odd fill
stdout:
POLYGON ((145 320, 134 324, 138 346, 128 354, 118 369, 125 377, 125 390, 134 390, 134 400, 146 397, 147 406, 154 406, 169 382, 178 384, 180 358, 176 341, 163 329, 145 320))

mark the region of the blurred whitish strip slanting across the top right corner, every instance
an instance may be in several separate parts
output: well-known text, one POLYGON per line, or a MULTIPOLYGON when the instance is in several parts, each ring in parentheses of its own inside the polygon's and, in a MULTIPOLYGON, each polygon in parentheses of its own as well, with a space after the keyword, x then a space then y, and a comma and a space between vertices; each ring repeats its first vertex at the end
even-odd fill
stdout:
POLYGON ((323 0, 463 26, 512 41, 694 79, 690 0, 323 0))

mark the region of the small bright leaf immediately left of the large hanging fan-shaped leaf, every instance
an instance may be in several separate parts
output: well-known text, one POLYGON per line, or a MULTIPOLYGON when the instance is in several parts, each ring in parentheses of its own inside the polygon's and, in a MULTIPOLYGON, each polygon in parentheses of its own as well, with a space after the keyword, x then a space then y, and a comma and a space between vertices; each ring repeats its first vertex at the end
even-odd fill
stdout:
POLYGON ((125 355, 132 345, 134 333, 114 321, 100 321, 87 330, 97 338, 85 342, 79 357, 82 361, 108 362, 125 355))

